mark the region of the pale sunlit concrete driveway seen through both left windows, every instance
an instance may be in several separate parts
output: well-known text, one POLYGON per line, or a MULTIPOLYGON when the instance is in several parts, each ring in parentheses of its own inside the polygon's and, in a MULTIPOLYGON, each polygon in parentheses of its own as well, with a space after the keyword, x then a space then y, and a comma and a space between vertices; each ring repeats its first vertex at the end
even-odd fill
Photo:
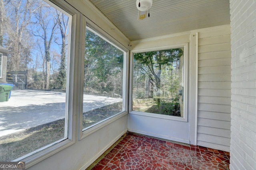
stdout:
MULTIPOLYGON (((14 90, 0 102, 0 136, 36 127, 65 117, 66 93, 14 90)), ((84 95, 83 112, 122 101, 111 97, 84 95)))

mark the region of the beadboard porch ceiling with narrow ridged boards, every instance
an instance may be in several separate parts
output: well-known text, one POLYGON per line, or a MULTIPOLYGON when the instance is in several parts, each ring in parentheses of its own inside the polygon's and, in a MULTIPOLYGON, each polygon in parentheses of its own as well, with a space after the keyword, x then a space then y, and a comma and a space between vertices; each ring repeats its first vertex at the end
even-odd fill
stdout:
POLYGON ((130 41, 230 24, 229 0, 153 0, 138 20, 136 0, 90 0, 130 41))

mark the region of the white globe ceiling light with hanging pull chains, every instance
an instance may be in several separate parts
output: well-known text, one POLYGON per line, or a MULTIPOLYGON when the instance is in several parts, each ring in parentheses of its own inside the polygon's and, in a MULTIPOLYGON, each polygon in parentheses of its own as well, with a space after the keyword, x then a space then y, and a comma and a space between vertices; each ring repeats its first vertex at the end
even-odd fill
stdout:
POLYGON ((138 14, 138 20, 143 20, 147 17, 147 11, 148 11, 148 17, 150 17, 149 9, 152 6, 153 0, 136 0, 136 6, 139 10, 138 14))

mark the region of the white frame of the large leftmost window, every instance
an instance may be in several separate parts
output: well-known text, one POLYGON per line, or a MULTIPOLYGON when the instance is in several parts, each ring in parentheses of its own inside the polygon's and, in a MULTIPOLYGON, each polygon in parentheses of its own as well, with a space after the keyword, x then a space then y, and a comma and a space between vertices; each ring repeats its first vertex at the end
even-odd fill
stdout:
POLYGON ((70 28, 68 35, 71 36, 69 42, 68 42, 68 63, 69 67, 67 67, 67 83, 66 83, 66 89, 68 91, 66 92, 66 108, 65 108, 65 135, 64 138, 58 140, 52 144, 49 144, 47 146, 44 146, 43 148, 40 148, 38 150, 35 150, 27 155, 24 155, 20 158, 17 158, 13 161, 25 161, 26 162, 26 168, 30 168, 31 166, 37 164, 38 162, 41 162, 42 160, 56 154, 60 150, 63 150, 64 148, 67 148, 68 146, 74 144, 76 142, 75 136, 76 136, 76 116, 75 113, 79 112, 78 109, 75 107, 77 103, 80 103, 79 100, 79 94, 80 91, 78 88, 75 87, 77 83, 76 81, 79 80, 78 72, 80 72, 79 68, 76 67, 76 64, 79 63, 78 56, 79 51, 78 44, 80 42, 80 22, 82 21, 81 18, 83 18, 82 14, 78 12, 76 9, 72 8, 68 3, 64 1, 58 1, 58 0, 51 0, 51 2, 44 0, 54 8, 62 11, 63 13, 70 16, 70 28))

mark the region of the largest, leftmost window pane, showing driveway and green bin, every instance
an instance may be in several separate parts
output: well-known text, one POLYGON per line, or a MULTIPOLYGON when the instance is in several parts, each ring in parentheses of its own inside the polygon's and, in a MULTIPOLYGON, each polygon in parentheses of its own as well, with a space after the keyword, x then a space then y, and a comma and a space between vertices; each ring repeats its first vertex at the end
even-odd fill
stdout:
POLYGON ((67 46, 72 18, 42 0, 4 2, 3 46, 12 52, 5 85, 14 87, 0 91, 0 160, 12 161, 68 136, 67 46))

